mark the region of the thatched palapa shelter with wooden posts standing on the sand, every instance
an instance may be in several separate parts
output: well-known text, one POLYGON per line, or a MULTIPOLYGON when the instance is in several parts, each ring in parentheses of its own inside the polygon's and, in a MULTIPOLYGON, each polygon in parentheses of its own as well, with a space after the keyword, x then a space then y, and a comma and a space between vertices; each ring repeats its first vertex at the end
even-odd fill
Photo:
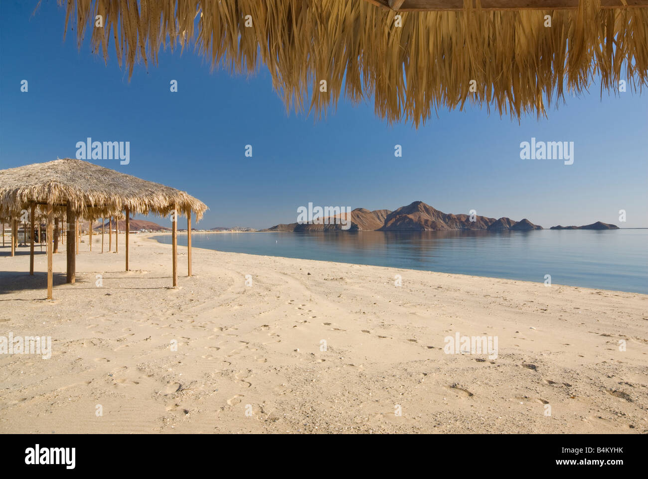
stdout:
MULTIPOLYGON (((21 219, 21 212, 30 210, 32 216, 47 218, 47 297, 52 299, 52 249, 53 223, 56 217, 65 216, 69 225, 67 231, 67 282, 75 282, 75 242, 78 235, 78 219, 98 217, 126 218, 126 271, 128 271, 128 217, 131 213, 166 216, 174 213, 188 216, 191 228, 191 214, 200 221, 207 205, 185 191, 154 183, 76 160, 58 159, 52 162, 36 163, 0 170, 0 219, 9 219, 13 225, 21 219)), ((177 278, 177 221, 174 221, 173 286, 177 278)), ((88 225, 89 227, 89 225, 88 225)), ((12 241, 14 235, 12 232, 12 241)), ((191 244, 191 243, 190 243, 191 244)), ((12 252, 14 251, 12 247, 12 252)), ((33 271, 33 247, 31 248, 33 271)), ((191 255, 189 256, 191 261, 191 255)), ((191 265, 188 268, 191 274, 191 265)))

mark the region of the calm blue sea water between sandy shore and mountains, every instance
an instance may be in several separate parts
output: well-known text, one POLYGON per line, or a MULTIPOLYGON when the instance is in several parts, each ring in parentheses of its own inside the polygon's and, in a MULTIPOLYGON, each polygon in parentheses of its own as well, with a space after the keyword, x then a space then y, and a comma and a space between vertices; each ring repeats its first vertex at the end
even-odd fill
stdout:
MULTIPOLYGON (((171 243, 171 236, 158 236, 171 243)), ((648 293, 648 230, 192 234, 218 251, 648 293)), ((187 236, 178 236, 186 246, 187 236)))

